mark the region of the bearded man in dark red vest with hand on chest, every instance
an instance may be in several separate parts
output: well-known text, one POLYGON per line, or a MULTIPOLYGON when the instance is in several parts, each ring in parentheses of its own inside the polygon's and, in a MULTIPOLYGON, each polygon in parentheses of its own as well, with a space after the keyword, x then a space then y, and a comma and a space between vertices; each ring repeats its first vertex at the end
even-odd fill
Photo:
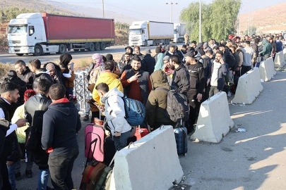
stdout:
POLYGON ((152 90, 149 72, 141 70, 141 58, 138 56, 133 57, 131 66, 131 69, 125 70, 121 75, 124 94, 130 99, 141 101, 145 106, 152 90))

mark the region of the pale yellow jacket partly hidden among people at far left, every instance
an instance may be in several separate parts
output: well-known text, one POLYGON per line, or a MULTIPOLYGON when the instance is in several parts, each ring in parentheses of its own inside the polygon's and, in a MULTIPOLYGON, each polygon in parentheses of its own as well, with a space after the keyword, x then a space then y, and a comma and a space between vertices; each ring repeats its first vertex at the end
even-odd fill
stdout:
MULTIPOLYGON (((19 119, 23 119, 25 118, 25 109, 24 109, 25 104, 23 104, 22 106, 19 106, 14 115, 13 118, 11 120, 11 123, 16 123, 19 119)), ((17 138, 18 138, 18 142, 20 144, 25 144, 26 141, 26 133, 25 133, 25 129, 27 129, 29 127, 29 123, 26 122, 26 125, 24 127, 20 127, 16 129, 16 134, 17 134, 17 138)))

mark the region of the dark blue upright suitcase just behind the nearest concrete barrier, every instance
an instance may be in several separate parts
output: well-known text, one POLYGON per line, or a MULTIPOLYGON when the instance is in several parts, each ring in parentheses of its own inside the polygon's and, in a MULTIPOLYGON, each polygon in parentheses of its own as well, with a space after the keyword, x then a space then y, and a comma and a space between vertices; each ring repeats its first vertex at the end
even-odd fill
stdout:
POLYGON ((180 127, 174 128, 174 135, 176 139, 178 155, 183 154, 184 156, 186 156, 186 153, 188 152, 188 138, 186 127, 181 125, 180 127))

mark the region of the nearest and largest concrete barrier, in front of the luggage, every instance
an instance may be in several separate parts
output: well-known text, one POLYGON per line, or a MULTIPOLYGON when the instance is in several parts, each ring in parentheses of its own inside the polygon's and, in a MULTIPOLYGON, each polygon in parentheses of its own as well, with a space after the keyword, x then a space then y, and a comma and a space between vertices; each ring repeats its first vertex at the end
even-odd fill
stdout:
POLYGON ((117 152, 114 159, 110 190, 169 189, 184 175, 172 126, 156 129, 117 152))

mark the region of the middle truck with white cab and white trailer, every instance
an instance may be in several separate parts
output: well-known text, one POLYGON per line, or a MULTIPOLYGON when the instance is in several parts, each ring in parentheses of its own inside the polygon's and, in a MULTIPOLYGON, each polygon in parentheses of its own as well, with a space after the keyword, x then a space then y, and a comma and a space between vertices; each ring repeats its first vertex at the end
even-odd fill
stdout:
POLYGON ((129 27, 129 46, 169 44, 174 38, 174 24, 155 21, 135 21, 129 27))

